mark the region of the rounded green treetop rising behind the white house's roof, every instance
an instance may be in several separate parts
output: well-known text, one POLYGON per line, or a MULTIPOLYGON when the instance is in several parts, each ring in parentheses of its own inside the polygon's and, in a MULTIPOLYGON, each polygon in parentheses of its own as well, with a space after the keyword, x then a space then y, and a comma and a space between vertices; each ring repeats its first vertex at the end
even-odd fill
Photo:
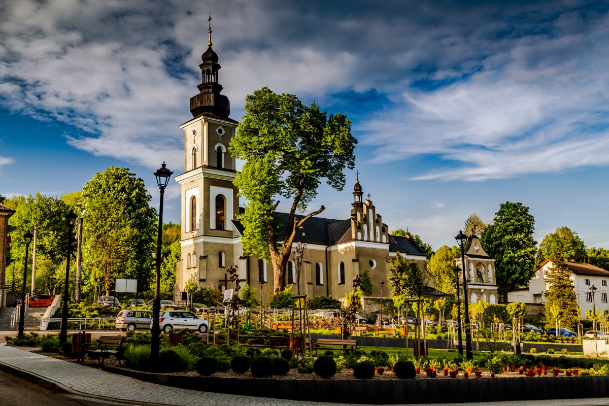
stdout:
POLYGON ((535 257, 535 266, 551 257, 555 251, 558 251, 565 261, 574 259, 575 261, 586 262, 588 260, 586 246, 582 239, 568 227, 559 227, 554 233, 543 237, 537 250, 537 257, 535 257))

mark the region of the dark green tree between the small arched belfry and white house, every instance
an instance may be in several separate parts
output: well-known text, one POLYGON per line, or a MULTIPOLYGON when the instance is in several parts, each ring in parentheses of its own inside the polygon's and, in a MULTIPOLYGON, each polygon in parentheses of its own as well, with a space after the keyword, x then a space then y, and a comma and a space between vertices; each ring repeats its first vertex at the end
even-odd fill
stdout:
POLYGON ((495 259, 495 276, 503 302, 510 290, 529 283, 535 271, 537 242, 533 239, 535 219, 520 202, 499 205, 494 222, 480 240, 488 255, 495 259))

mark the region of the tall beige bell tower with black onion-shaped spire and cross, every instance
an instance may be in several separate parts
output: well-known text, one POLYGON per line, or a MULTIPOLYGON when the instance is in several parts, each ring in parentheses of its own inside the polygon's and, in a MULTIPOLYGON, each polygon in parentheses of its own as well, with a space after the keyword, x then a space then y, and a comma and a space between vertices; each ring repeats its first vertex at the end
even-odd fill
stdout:
POLYGON ((202 286, 217 284, 216 274, 224 275, 224 262, 230 265, 234 259, 231 220, 239 213, 239 198, 233 185, 235 160, 228 146, 239 123, 228 117, 230 102, 220 94, 219 58, 211 48, 211 15, 208 21, 208 48, 199 65, 202 82, 197 86, 199 94, 190 99, 193 118, 180 125, 185 172, 175 177, 181 185, 181 261, 175 298, 193 276, 202 286))

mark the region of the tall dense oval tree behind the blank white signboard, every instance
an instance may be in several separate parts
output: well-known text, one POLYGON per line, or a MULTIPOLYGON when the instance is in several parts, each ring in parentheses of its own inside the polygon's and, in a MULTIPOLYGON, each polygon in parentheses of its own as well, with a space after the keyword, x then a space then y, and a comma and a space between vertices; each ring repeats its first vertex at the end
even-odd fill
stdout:
POLYGON ((110 295, 114 278, 152 281, 157 212, 141 178, 127 168, 109 167, 83 187, 83 262, 92 282, 110 295))

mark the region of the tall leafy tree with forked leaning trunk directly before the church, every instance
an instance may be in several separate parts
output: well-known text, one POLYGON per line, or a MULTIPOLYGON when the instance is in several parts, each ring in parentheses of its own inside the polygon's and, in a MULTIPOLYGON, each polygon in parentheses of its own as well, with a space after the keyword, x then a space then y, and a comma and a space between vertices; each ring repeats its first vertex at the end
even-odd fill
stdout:
POLYGON ((293 94, 262 88, 245 97, 245 116, 230 152, 245 159, 234 180, 247 199, 239 220, 245 227, 241 243, 247 254, 270 258, 275 295, 283 291, 285 268, 298 229, 325 208, 298 218, 317 194, 322 179, 334 189, 345 185, 345 167, 353 169, 357 140, 344 114, 328 116, 293 94), (287 224, 276 215, 280 200, 289 201, 287 224))

